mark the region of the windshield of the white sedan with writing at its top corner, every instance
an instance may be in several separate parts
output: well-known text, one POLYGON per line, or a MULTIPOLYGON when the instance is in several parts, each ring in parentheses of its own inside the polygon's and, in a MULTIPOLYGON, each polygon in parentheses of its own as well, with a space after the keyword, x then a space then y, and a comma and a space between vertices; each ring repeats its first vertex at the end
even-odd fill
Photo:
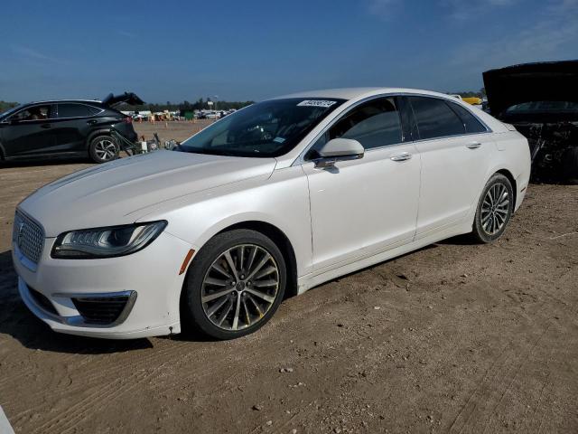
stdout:
POLYGON ((282 156, 344 101, 291 98, 260 102, 203 129, 177 150, 218 156, 282 156))

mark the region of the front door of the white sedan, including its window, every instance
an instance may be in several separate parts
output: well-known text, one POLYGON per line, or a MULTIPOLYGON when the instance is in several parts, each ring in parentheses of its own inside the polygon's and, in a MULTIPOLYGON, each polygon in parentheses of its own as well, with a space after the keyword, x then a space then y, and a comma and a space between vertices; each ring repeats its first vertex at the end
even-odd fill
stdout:
POLYGON ((331 269, 410 242, 415 235, 420 157, 405 142, 396 98, 371 99, 341 116, 305 155, 314 270, 331 269), (332 138, 358 140, 360 159, 315 164, 332 138))

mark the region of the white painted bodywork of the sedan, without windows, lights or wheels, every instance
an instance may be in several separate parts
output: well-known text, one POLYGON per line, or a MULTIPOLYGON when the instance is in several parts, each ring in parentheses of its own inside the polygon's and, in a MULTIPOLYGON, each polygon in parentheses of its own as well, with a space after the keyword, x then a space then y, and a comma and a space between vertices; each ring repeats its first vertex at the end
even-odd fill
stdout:
MULTIPOLYGON (((303 161, 314 140, 353 106, 388 95, 425 90, 364 88, 303 92, 286 97, 347 99, 284 156, 245 158, 159 151, 69 175, 33 193, 19 211, 42 226, 42 258, 35 271, 14 251, 24 302, 54 330, 109 338, 180 331, 179 274, 190 250, 219 231, 257 222, 284 234, 294 252, 297 292, 331 278, 471 231, 480 193, 501 171, 515 181, 517 209, 530 175, 526 138, 476 110, 488 133, 369 149, 360 159, 318 168, 303 161), (473 141, 477 148, 467 147, 473 141), (401 153, 410 159, 393 161, 401 153), (53 259, 64 231, 133 222, 168 222, 151 245, 111 259, 53 259), (49 297, 51 316, 30 296, 49 297), (79 312, 62 294, 136 291, 126 320, 111 327, 75 325, 79 312), (69 319, 67 319, 69 318, 69 319)), ((280 97, 280 98, 286 98, 280 97)), ((219 121, 220 122, 220 121, 219 121)))

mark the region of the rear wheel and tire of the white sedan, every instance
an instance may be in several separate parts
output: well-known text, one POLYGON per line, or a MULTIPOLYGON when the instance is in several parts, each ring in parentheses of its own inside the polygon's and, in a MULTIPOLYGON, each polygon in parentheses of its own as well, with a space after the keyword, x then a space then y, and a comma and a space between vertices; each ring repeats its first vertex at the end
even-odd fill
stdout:
POLYGON ((473 222, 473 236, 487 243, 502 236, 514 212, 514 190, 509 179, 494 174, 484 187, 473 222))

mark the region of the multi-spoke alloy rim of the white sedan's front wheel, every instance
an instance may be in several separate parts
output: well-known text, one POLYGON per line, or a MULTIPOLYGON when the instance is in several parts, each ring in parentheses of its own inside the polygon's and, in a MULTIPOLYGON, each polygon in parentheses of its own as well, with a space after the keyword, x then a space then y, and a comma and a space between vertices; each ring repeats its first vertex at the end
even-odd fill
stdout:
POLYGON ((203 312, 223 330, 256 325, 273 306, 279 290, 279 268, 267 250, 241 244, 221 253, 202 282, 203 312))

